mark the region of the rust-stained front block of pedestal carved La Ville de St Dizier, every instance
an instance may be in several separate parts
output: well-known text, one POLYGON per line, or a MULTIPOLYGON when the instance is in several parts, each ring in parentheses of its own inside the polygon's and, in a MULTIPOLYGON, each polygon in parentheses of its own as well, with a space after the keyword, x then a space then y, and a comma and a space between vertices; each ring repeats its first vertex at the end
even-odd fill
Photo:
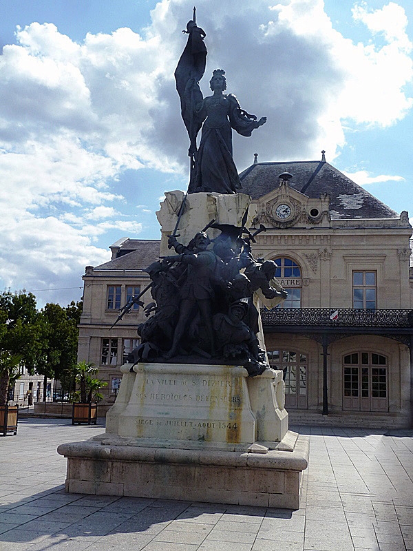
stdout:
POLYGON ((138 364, 133 369, 134 388, 119 415, 119 436, 231 447, 255 439, 244 368, 138 364))

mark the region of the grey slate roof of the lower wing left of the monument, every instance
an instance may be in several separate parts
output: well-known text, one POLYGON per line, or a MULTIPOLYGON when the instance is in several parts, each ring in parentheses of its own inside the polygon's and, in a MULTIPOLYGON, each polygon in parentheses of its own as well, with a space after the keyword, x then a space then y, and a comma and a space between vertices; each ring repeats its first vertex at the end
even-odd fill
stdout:
POLYGON ((94 267, 95 270, 143 270, 159 259, 159 239, 128 239, 120 247, 120 256, 94 267))

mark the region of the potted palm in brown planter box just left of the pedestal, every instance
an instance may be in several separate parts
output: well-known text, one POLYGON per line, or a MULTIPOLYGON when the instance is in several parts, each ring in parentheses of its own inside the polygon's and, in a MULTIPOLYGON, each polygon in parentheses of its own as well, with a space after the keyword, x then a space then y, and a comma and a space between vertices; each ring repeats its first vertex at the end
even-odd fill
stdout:
POLYGON ((94 377, 98 368, 92 362, 82 360, 74 366, 74 379, 78 390, 72 393, 72 425, 94 424, 98 420, 98 402, 103 398, 100 388, 107 386, 107 382, 94 377))

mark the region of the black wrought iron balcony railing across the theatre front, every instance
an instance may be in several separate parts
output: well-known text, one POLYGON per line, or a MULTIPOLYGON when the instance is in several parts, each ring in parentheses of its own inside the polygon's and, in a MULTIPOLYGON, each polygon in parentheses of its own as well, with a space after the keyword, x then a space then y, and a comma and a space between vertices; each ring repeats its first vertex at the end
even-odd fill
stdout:
POLYGON ((413 310, 262 308, 261 317, 264 326, 413 327, 413 310))

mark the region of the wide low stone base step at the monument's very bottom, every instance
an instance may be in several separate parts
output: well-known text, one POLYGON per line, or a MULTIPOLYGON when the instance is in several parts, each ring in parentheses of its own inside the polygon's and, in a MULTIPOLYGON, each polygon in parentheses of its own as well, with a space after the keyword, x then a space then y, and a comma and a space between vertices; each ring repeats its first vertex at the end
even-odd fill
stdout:
MULTIPOLYGON (((127 444, 128 439, 124 439, 127 444)), ((66 492, 299 508, 301 472, 309 440, 293 451, 240 453, 100 444, 61 444, 67 457, 66 492)))

